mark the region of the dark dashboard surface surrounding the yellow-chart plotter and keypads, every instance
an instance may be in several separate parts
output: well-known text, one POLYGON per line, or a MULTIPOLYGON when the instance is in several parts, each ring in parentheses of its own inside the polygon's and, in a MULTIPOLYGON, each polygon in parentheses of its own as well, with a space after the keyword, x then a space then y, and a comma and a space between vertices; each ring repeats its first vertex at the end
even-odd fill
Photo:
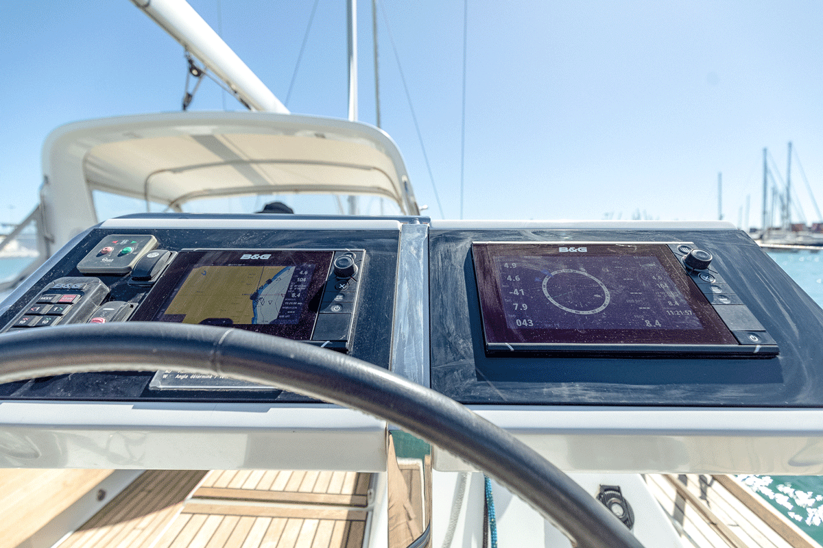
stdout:
MULTIPOLYGON (((223 216, 224 218, 226 216, 223 216)), ((187 219, 186 215, 144 215, 140 219, 187 219)), ((299 219, 299 216, 294 216, 299 219)), ((200 219, 203 219, 201 216, 200 219)), ((235 216, 233 221, 249 219, 250 227, 260 216, 235 216)), ((332 222, 335 219, 331 219, 332 222)), ((48 273, 34 283, 2 316, 0 325, 7 325, 21 313, 31 299, 55 280, 82 277, 77 264, 93 250, 101 238, 122 234, 123 228, 95 228, 83 237, 71 251, 53 265, 48 273)), ((394 285, 398 259, 398 232, 393 230, 340 229, 237 229, 237 228, 128 228, 129 234, 146 234, 156 238, 158 248, 170 251, 184 249, 357 249, 365 250, 365 275, 360 279, 358 310, 351 327, 347 352, 377 366, 388 368, 391 348, 391 327, 394 305, 394 285)), ((86 278, 89 278, 86 276, 86 278)), ((139 304, 149 287, 129 283, 128 275, 95 274, 110 289, 105 302, 139 304)), ((90 278, 91 279, 91 278, 90 278)), ((38 329, 38 328, 35 328, 38 329)), ((59 325, 43 329, 55 329, 59 325)), ((13 336, 13 335, 0 335, 13 336)), ((100 344, 117 344, 116 340, 101 340, 100 344)), ((175 401, 306 401, 307 398, 277 390, 191 390, 150 389, 152 373, 88 373, 61 375, 46 379, 0 385, 0 398, 49 400, 175 400, 175 401)))

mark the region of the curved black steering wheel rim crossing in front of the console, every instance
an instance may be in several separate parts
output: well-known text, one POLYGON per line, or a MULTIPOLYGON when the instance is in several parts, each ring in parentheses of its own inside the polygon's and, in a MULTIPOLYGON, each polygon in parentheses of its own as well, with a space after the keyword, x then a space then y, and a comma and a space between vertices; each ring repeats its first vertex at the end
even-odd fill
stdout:
POLYGON ((340 352, 241 329, 156 322, 0 337, 0 383, 165 368, 271 385, 379 417, 486 471, 581 548, 642 547, 605 506, 513 435, 443 394, 340 352), (101 345, 106 338, 118 344, 101 345))

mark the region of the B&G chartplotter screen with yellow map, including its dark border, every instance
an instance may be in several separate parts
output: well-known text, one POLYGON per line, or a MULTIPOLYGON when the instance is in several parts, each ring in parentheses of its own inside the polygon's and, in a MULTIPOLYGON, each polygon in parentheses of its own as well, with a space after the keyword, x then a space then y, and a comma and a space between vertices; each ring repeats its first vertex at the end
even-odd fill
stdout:
POLYGON ((332 251, 183 251, 136 320, 221 325, 308 340, 332 251))

